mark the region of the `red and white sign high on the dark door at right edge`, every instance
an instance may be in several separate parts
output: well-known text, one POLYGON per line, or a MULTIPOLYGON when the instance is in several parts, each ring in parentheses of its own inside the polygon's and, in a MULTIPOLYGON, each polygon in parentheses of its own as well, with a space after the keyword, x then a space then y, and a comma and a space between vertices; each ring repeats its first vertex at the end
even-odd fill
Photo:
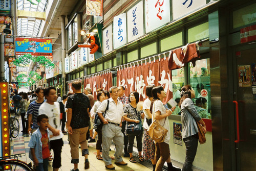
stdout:
POLYGON ((241 43, 256 40, 256 25, 240 29, 241 43))

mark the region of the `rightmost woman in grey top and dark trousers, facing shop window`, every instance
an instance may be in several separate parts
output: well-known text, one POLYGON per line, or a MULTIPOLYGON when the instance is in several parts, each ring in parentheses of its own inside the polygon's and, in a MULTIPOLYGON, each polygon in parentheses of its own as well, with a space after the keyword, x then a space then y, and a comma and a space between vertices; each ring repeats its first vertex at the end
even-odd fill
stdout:
POLYGON ((198 146, 198 128, 196 120, 202 125, 204 133, 206 133, 206 126, 191 100, 195 98, 195 90, 193 90, 191 85, 183 86, 180 95, 179 106, 181 108, 182 137, 186 145, 186 159, 182 170, 190 171, 198 146))

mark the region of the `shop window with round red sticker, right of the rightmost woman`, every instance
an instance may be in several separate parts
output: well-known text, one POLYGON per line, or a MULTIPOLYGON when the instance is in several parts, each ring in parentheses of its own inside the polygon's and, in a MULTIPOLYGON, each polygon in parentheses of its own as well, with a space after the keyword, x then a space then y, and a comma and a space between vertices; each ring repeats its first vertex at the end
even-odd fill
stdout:
POLYGON ((190 63, 190 85, 196 92, 194 102, 199 115, 211 118, 209 58, 196 61, 195 67, 190 63))

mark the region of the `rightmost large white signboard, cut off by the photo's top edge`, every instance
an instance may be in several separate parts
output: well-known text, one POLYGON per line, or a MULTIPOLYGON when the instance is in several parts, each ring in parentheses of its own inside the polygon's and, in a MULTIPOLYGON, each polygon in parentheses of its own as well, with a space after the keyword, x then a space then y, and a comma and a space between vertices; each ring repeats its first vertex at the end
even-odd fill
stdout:
POLYGON ((205 0, 183 0, 183 1, 172 1, 173 5, 173 19, 177 19, 185 14, 188 14, 195 9, 198 9, 206 4, 205 0))

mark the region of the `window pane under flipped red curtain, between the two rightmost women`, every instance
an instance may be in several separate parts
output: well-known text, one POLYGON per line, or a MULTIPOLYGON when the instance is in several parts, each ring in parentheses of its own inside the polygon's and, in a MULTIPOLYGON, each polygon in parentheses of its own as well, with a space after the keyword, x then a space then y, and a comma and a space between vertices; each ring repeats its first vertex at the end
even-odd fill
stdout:
MULTIPOLYGON (((180 103, 180 91, 184 85, 184 68, 172 70, 173 78, 173 99, 177 104, 180 103)), ((181 115, 180 107, 177 105, 173 115, 181 115)))

